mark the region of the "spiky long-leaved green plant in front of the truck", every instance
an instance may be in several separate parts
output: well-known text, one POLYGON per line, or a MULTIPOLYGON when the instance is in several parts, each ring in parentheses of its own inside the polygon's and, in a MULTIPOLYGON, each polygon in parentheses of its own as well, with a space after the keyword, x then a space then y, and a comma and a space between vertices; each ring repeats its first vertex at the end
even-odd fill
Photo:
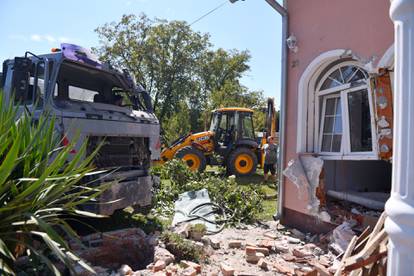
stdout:
POLYGON ((73 145, 60 146, 51 116, 34 123, 27 112, 17 119, 17 108, 0 94, 0 274, 16 274, 16 259, 23 255, 40 261, 47 274, 60 274, 57 260, 72 270, 75 264, 90 270, 63 236, 77 238, 65 218, 97 216, 77 208, 104 189, 80 181, 93 173, 94 154, 82 159, 85 143, 70 160, 73 145))

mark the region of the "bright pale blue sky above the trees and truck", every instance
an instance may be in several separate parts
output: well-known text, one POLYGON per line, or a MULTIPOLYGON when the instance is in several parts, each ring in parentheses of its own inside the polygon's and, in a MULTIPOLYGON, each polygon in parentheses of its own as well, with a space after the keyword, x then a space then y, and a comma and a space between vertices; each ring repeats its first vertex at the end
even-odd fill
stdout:
POLYGON ((0 0, 0 60, 48 53, 61 42, 98 46, 94 30, 123 14, 191 23, 223 3, 191 27, 209 33, 215 48, 248 50, 250 71, 242 83, 279 106, 282 20, 265 0, 0 0))

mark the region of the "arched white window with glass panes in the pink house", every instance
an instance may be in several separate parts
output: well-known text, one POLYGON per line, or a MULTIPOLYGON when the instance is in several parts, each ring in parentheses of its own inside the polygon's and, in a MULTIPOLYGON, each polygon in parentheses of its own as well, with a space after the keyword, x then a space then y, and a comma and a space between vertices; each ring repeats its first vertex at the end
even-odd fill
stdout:
POLYGON ((373 110, 368 74, 352 61, 322 73, 316 91, 316 149, 326 156, 372 154, 373 110))

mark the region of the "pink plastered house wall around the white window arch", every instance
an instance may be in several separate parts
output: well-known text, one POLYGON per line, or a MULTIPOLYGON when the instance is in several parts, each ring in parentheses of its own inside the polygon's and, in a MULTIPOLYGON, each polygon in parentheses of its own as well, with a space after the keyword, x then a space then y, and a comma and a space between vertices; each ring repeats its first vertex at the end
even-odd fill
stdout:
MULTIPOLYGON (((288 0, 288 36, 297 38, 297 53, 288 53, 285 164, 295 157, 298 84, 308 64, 320 54, 350 49, 362 59, 377 62, 392 45, 394 29, 389 0, 288 0)), ((306 200, 285 178, 284 208, 307 213, 306 200)))

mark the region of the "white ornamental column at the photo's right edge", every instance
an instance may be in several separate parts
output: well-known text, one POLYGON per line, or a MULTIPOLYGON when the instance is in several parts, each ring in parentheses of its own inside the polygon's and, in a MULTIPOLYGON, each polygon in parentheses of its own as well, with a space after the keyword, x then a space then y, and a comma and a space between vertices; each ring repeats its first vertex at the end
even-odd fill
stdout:
POLYGON ((399 276, 414 271, 414 0, 392 0, 390 16, 395 32, 394 154, 385 231, 387 275, 399 276))

